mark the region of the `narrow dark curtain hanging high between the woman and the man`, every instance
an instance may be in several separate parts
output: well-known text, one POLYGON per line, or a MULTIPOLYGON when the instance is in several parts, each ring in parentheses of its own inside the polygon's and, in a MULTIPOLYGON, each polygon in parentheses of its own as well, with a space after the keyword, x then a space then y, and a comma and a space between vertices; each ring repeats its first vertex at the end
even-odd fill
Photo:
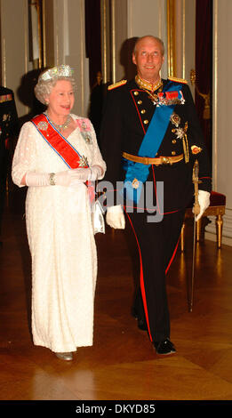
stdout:
POLYGON ((90 86, 96 83, 101 71, 100 51, 100 0, 85 0, 85 48, 89 58, 90 86))

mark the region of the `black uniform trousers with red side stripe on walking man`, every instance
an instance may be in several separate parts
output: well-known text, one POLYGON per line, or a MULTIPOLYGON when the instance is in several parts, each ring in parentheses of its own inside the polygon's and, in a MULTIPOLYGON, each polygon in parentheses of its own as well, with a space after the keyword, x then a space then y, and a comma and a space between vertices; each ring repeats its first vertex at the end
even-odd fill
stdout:
POLYGON ((165 278, 178 245, 184 213, 185 210, 180 210, 165 214, 159 222, 148 222, 148 213, 128 213, 141 262, 140 293, 134 309, 139 318, 145 316, 152 342, 170 337, 165 278))

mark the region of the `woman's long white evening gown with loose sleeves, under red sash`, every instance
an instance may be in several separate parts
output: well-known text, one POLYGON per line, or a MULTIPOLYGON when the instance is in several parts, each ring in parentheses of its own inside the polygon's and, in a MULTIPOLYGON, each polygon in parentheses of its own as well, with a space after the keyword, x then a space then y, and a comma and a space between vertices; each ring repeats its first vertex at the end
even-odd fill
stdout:
MULTIPOLYGON (((76 125, 68 142, 87 157, 89 165, 100 165, 105 171, 90 121, 72 117, 76 124, 89 124, 91 141, 84 140, 76 125)), ((67 169, 32 123, 22 126, 12 162, 12 179, 18 186, 28 171, 67 169)), ((92 345, 97 253, 86 186, 29 187, 26 221, 32 257, 34 343, 55 352, 92 345)))

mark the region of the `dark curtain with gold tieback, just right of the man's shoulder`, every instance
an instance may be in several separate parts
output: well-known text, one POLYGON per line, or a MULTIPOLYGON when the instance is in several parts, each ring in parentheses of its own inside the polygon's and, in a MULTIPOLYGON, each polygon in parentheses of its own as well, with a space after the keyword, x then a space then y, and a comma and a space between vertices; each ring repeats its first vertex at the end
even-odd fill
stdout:
POLYGON ((196 110, 212 157, 212 0, 196 0, 196 110))

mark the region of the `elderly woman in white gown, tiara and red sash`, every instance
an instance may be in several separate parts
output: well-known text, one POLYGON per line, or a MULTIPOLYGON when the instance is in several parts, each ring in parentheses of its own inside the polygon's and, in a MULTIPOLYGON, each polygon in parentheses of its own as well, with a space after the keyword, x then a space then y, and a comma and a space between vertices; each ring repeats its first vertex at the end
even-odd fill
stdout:
POLYGON ((22 126, 12 162, 12 180, 28 186, 33 341, 71 360, 77 347, 92 345, 97 254, 90 185, 106 165, 90 120, 70 114, 72 69, 46 70, 35 92, 47 110, 22 126))

